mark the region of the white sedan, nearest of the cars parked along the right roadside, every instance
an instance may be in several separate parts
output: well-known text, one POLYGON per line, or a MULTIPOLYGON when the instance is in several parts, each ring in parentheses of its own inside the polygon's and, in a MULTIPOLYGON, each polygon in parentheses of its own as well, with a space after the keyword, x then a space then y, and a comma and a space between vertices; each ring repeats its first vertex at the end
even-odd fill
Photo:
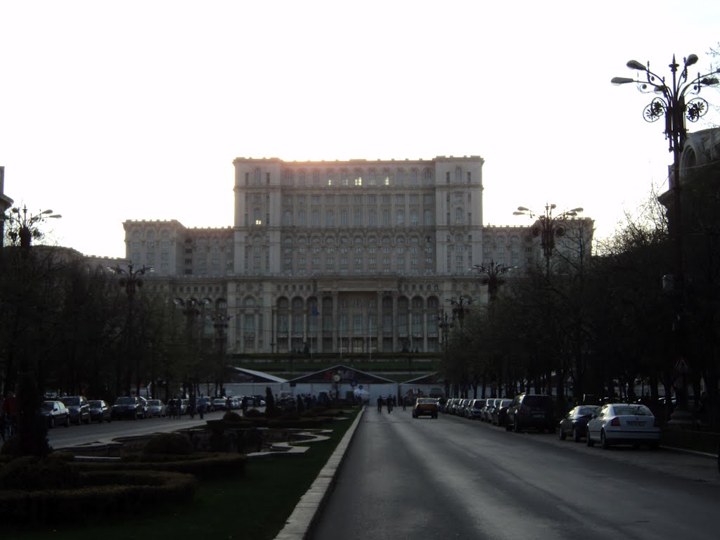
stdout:
POLYGON ((660 426, 652 411, 637 403, 608 403, 588 420, 588 446, 600 443, 604 449, 613 444, 660 446, 660 426))

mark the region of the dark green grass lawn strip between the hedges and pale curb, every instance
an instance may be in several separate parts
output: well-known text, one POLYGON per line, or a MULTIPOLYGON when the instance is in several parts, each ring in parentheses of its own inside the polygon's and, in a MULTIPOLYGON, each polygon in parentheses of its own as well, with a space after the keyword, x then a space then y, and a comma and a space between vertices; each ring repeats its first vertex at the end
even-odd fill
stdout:
POLYGON ((6 529, 3 540, 273 539, 328 461, 358 410, 337 420, 328 441, 308 444, 305 454, 250 460, 246 475, 204 482, 194 500, 163 504, 141 516, 102 523, 6 529))

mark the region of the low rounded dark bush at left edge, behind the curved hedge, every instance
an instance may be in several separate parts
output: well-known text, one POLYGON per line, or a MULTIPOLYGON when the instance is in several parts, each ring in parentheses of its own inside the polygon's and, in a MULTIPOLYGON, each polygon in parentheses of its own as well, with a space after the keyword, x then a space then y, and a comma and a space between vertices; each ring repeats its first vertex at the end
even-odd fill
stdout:
POLYGON ((5 490, 59 490, 78 485, 78 469, 51 456, 19 457, 0 469, 0 488, 5 490))

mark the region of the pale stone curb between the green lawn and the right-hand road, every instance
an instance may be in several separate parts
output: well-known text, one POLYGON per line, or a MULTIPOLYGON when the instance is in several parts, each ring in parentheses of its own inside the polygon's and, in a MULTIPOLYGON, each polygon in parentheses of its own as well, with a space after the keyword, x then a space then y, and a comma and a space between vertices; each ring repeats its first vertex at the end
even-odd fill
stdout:
POLYGON ((275 540, 304 540, 310 534, 315 520, 320 516, 320 508, 323 508, 323 503, 325 503, 330 491, 333 489, 338 469, 343 463, 345 453, 364 413, 365 407, 360 410, 353 425, 348 428, 348 431, 338 443, 338 447, 328 458, 328 462, 325 463, 323 469, 320 470, 315 482, 312 482, 310 489, 305 492, 305 495, 302 495, 292 514, 287 518, 282 531, 275 536, 275 540))

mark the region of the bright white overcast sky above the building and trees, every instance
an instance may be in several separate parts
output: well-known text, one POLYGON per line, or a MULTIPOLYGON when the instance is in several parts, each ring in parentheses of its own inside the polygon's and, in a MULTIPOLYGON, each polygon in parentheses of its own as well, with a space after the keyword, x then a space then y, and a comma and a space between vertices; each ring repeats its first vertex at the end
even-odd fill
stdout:
POLYGON ((0 29, 6 195, 104 256, 128 219, 232 225, 238 156, 482 156, 485 223, 552 202, 604 238, 672 158, 610 79, 720 64, 716 0, 0 0, 0 29))

